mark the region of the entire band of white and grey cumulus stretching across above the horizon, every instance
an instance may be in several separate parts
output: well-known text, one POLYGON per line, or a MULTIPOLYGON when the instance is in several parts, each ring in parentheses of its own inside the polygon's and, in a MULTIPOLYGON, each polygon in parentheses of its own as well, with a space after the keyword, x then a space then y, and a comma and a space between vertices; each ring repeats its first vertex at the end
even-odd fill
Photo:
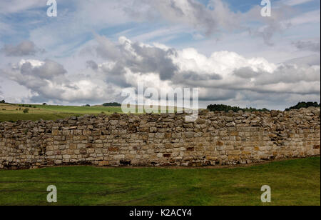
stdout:
MULTIPOLYGON (((69 75, 61 64, 51 60, 21 60, 2 71, 9 79, 26 86, 31 100, 69 102, 120 100, 121 90, 146 87, 170 91, 200 88, 200 101, 225 103, 271 102, 284 104, 305 97, 320 99, 320 62, 302 58, 282 64, 266 59, 245 58, 230 51, 210 56, 196 49, 174 49, 162 44, 142 44, 120 37, 113 42, 97 36, 93 51, 97 59, 86 61, 87 69, 69 75)), ((264 106, 264 105, 263 105, 264 106)))

